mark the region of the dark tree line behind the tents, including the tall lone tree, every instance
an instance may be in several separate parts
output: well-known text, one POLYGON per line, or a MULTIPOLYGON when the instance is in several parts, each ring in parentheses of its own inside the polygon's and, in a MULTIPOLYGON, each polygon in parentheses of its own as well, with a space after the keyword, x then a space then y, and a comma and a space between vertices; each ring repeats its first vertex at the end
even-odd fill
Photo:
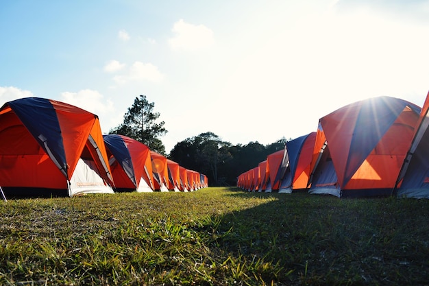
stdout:
POLYGON ((149 102, 146 95, 134 99, 128 108, 123 123, 110 130, 110 134, 121 134, 140 141, 150 150, 158 152, 175 161, 186 169, 192 169, 208 177, 210 186, 228 186, 236 184, 236 177, 243 172, 257 167, 267 156, 282 150, 286 139, 262 145, 249 142, 246 145, 232 145, 222 141, 212 132, 204 132, 178 142, 167 155, 160 139, 167 133, 164 121, 157 122, 159 112, 154 112, 154 102, 149 102))

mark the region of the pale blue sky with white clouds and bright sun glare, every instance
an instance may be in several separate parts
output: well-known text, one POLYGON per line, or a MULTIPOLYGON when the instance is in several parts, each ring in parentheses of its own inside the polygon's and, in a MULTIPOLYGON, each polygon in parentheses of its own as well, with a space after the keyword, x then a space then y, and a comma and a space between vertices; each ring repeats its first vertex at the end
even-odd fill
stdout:
POLYGON ((146 95, 167 153, 203 132, 267 145, 369 97, 422 106, 428 35, 426 0, 3 0, 0 106, 55 99, 108 133, 146 95))

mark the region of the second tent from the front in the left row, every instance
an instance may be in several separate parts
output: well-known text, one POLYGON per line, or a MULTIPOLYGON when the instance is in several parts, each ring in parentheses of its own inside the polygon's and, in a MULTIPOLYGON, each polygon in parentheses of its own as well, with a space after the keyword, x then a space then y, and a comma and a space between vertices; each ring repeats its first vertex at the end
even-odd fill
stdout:
POLYGON ((127 136, 103 136, 117 191, 154 191, 149 147, 127 136))

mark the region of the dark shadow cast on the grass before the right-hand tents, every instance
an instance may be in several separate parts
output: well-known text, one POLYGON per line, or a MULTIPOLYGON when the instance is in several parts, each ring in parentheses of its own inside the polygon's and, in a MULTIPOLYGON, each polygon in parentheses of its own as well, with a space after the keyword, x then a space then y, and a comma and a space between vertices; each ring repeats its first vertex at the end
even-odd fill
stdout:
POLYGON ((200 231, 212 233, 212 251, 227 258, 237 280, 248 285, 428 283, 428 200, 228 191, 248 200, 249 208, 211 217, 200 231))

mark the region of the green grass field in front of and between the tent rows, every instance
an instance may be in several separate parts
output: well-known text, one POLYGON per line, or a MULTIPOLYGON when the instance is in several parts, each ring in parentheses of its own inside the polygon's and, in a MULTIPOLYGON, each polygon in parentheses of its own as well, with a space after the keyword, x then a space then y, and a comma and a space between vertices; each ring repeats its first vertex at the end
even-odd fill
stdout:
POLYGON ((117 193, 0 203, 1 285, 428 285, 429 200, 117 193))

